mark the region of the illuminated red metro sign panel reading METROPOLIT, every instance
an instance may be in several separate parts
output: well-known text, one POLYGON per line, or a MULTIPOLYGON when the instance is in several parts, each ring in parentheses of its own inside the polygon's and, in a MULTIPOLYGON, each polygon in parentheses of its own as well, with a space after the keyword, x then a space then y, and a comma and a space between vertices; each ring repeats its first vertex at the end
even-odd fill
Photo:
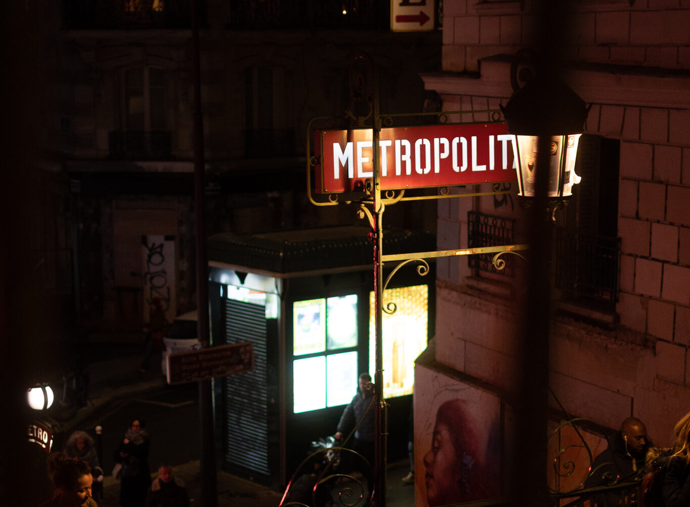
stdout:
MULTIPOLYGON (((316 130, 316 192, 364 189, 373 179, 373 130, 316 130)), ((381 190, 515 181, 508 124, 454 123, 382 128, 381 190)))

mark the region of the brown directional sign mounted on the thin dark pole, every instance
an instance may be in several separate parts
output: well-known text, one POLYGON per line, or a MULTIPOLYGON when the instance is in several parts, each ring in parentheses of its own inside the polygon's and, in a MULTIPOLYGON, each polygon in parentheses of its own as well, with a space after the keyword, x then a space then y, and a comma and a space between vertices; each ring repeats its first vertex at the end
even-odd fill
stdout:
POLYGON ((250 341, 175 352, 168 356, 168 384, 227 377, 253 369, 254 345, 250 341))

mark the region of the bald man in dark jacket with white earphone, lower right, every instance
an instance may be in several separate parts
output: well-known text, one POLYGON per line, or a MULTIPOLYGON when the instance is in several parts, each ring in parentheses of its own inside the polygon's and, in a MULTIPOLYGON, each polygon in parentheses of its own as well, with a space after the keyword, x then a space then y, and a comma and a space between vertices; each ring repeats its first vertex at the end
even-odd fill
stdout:
MULTIPOLYGON (((644 475, 644 457, 651 442, 647 428, 637 417, 628 417, 609 440, 609 447, 594 459, 592 470, 584 483, 585 488, 607 486, 619 482, 641 479, 644 475)), ((618 495, 609 493, 607 505, 618 505, 618 495)), ((603 505, 603 495, 595 497, 603 505)))

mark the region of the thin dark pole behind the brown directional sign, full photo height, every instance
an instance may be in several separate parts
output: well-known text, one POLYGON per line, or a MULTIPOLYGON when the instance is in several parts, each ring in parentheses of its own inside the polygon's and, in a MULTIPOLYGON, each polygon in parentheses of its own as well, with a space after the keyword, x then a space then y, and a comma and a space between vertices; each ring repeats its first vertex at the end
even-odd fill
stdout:
MULTIPOLYGON (((206 255, 206 204, 204 202, 204 123, 201 114, 201 62, 199 56, 198 0, 190 0, 192 18, 192 79, 194 81, 194 201, 196 210, 197 334, 201 347, 210 345, 208 324, 208 268, 206 255)), ((211 381, 199 381, 199 430, 201 431, 201 506, 217 505, 215 443, 211 381)))

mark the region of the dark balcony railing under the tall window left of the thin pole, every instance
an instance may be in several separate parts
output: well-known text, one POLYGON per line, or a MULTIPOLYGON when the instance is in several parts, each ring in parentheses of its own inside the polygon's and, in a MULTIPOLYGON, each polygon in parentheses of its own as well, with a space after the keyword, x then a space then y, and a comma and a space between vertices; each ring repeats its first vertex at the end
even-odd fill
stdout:
POLYGON ((169 160, 170 132, 128 130, 110 132, 110 158, 117 160, 169 160))

